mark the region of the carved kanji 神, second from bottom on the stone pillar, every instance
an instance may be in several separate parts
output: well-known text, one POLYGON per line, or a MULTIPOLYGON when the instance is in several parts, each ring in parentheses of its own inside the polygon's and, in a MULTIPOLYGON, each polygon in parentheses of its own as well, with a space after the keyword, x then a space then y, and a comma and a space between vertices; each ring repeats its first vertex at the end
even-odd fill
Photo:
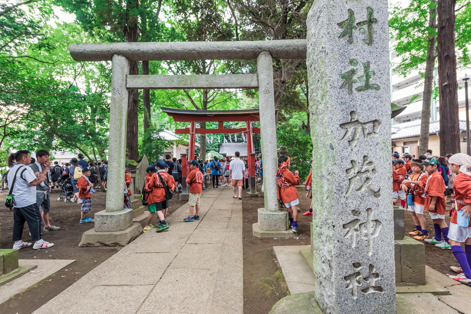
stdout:
POLYGON ((350 245, 353 249, 357 246, 357 235, 359 235, 367 241, 368 255, 371 256, 373 254, 373 239, 380 234, 382 222, 373 219, 373 209, 371 208, 366 209, 366 221, 364 222, 358 218, 360 216, 359 210, 352 210, 352 214, 357 218, 343 224, 343 230, 347 231, 343 238, 350 238, 350 245))

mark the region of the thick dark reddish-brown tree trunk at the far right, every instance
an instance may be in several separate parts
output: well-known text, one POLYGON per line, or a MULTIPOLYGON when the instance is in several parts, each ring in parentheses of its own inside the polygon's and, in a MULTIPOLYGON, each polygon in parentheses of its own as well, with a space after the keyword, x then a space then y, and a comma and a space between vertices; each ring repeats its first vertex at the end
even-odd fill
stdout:
POLYGON ((438 1, 438 72, 440 101, 440 155, 460 152, 458 82, 455 56, 455 2, 438 1))

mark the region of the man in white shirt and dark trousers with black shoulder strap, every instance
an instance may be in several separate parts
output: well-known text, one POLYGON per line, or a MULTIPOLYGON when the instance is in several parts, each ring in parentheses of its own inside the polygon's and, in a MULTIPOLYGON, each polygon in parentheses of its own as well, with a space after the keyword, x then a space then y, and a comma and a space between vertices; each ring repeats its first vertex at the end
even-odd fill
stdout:
POLYGON ((8 187, 13 189, 13 249, 19 250, 31 246, 30 242, 23 242, 24 222, 28 223, 31 238, 35 242, 33 249, 47 249, 54 246, 41 238, 41 214, 36 204, 36 186, 46 179, 50 161, 46 168, 36 177, 30 167, 30 153, 27 150, 19 150, 15 153, 16 165, 8 171, 8 187), (15 181, 15 183, 13 183, 15 181))

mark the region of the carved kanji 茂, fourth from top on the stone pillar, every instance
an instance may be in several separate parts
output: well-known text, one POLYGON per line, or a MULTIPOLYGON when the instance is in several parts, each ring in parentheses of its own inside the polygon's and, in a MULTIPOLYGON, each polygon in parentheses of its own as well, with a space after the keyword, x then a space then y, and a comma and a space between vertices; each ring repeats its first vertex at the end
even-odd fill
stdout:
POLYGON ((352 160, 350 161, 351 168, 345 170, 349 176, 353 175, 353 177, 349 178, 349 187, 345 196, 349 195, 355 186, 355 182, 358 180, 360 181, 360 186, 355 190, 357 192, 366 191, 367 193, 373 195, 375 198, 381 198, 381 187, 374 191, 371 187, 372 179, 371 177, 376 174, 376 169, 374 169, 373 161, 370 161, 368 156, 363 156, 362 164, 359 165, 357 161, 352 160))

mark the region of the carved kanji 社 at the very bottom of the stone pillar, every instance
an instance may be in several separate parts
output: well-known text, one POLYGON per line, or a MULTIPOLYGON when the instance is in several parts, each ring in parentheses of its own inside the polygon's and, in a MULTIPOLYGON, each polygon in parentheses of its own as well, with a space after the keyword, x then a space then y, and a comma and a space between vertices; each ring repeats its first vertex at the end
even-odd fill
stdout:
POLYGON ((368 266, 368 274, 362 278, 363 274, 361 273, 361 269, 363 265, 361 263, 352 263, 353 268, 355 268, 356 272, 346 275, 343 277, 343 280, 347 282, 347 286, 345 289, 351 290, 352 297, 356 299, 358 297, 358 289, 367 284, 367 287, 361 289, 360 291, 364 294, 370 294, 374 292, 382 293, 383 287, 377 286, 376 281, 380 280, 380 274, 376 273, 376 267, 373 264, 369 264, 368 266), (362 280, 363 279, 363 282, 362 280))

